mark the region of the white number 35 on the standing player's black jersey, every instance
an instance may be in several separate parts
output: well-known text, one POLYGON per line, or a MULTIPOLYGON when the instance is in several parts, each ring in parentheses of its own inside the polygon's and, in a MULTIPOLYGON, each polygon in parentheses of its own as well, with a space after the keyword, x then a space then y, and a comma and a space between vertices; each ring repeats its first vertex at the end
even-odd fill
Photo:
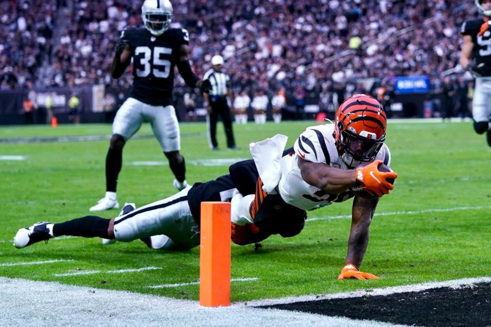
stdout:
POLYGON ((148 46, 137 46, 135 49, 135 56, 143 54, 140 58, 140 65, 143 69, 136 68, 136 73, 138 77, 147 77, 152 71, 153 76, 159 78, 167 78, 170 74, 170 61, 166 59, 161 59, 161 55, 172 54, 172 49, 164 48, 163 46, 155 46, 153 48, 153 69, 150 67, 150 59, 152 58, 152 50, 148 46), (162 68, 162 69, 160 69, 162 68))

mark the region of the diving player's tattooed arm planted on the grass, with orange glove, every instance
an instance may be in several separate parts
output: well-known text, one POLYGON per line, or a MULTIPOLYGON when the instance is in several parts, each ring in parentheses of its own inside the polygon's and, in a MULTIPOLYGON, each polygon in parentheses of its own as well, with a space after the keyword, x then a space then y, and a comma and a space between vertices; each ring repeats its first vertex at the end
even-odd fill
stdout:
POLYGON ((351 229, 348 239, 348 253, 345 265, 338 279, 376 279, 377 276, 359 271, 363 256, 367 250, 370 222, 377 206, 378 198, 355 197, 353 200, 351 229))

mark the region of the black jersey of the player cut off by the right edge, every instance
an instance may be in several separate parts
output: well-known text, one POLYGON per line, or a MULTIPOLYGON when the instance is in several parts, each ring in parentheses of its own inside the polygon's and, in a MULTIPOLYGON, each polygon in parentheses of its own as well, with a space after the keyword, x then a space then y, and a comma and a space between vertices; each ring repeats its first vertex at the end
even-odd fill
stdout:
POLYGON ((491 32, 488 31, 483 36, 478 36, 482 24, 484 24, 482 18, 467 20, 462 24, 461 33, 472 37, 474 43, 472 58, 474 58, 476 65, 484 63, 484 66, 479 69, 479 73, 482 76, 491 76, 491 32))

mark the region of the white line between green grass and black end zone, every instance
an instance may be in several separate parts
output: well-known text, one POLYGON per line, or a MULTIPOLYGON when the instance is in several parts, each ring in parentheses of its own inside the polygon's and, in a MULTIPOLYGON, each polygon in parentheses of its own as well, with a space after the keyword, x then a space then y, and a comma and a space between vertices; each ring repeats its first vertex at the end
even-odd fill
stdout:
POLYGON ((288 296, 278 299, 253 300, 247 302, 236 302, 234 303, 234 305, 258 307, 258 306, 271 306, 271 305, 294 303, 294 302, 326 300, 326 299, 334 299, 334 298, 352 298, 352 297, 376 296, 376 295, 384 296, 384 295, 391 295, 396 293, 419 292, 419 291, 425 291, 429 289, 442 288, 442 287, 460 288, 463 286, 474 285, 479 283, 490 283, 490 282, 491 282, 490 276, 482 276, 482 277, 474 277, 474 278, 453 279, 450 281, 443 281, 443 282, 429 282, 429 283, 412 284, 412 285, 392 286, 387 288, 360 290, 360 291, 346 292, 346 293, 288 296))

